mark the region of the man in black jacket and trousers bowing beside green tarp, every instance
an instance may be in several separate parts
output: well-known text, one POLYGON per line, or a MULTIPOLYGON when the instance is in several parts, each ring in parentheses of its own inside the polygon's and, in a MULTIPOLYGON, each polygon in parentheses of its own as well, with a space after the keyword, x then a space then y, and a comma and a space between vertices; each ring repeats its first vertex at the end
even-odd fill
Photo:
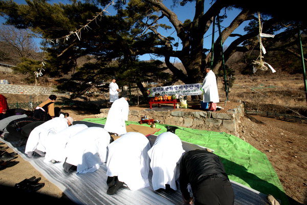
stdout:
POLYGON ((186 204, 234 203, 234 193, 217 155, 207 150, 191 150, 180 161, 180 190, 186 204), (193 197, 187 189, 190 183, 193 197), (194 199, 193 199, 194 198, 194 199))

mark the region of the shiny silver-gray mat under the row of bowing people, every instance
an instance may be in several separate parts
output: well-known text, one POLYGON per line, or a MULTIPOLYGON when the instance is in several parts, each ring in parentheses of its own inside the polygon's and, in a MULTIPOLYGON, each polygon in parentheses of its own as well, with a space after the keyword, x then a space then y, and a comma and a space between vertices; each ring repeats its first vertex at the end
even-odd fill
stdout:
MULTIPOLYGON (((83 123, 78 121, 76 124, 83 123)), ((74 123, 75 124, 75 123, 74 123)), ((103 125, 93 122, 84 122, 89 127, 101 127, 103 125)), ((153 145, 156 135, 148 136, 150 144, 153 145)), ((44 161, 45 157, 29 158, 24 154, 25 146, 16 147, 16 142, 8 139, 6 142, 15 152, 37 169, 49 181, 54 183, 72 201, 79 204, 183 204, 180 190, 158 190, 153 191, 151 187, 137 191, 130 191, 127 187, 120 189, 115 195, 107 195, 106 166, 93 173, 76 174, 65 173, 62 163, 51 163, 44 161)), ((183 142, 184 150, 203 149, 198 145, 183 142)), ((151 176, 151 173, 150 173, 151 176)), ((151 178, 149 176, 149 178, 151 178)), ((266 195, 259 193, 244 185, 231 181, 235 193, 234 204, 267 204, 266 195)), ((150 181, 151 184, 151 181, 150 181)))

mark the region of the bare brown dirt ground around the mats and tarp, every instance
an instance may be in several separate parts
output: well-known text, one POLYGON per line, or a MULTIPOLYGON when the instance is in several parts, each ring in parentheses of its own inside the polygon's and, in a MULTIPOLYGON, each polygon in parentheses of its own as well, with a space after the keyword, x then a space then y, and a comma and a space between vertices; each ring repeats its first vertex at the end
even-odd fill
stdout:
MULTIPOLYGON (((62 112, 70 113, 75 120, 95 118, 97 114, 65 107, 61 109, 62 112)), ((133 107, 130 107, 131 109, 133 107)), ((267 155, 291 204, 307 204, 306 133, 307 124, 264 116, 246 115, 239 122, 240 138, 267 155)), ((9 152, 11 151, 9 149, 9 152)), ((0 171, 0 185, 14 186, 25 178, 36 176, 41 177, 41 182, 46 183, 38 192, 65 198, 61 190, 36 171, 29 162, 19 155, 15 160, 19 161, 17 165, 0 171)))

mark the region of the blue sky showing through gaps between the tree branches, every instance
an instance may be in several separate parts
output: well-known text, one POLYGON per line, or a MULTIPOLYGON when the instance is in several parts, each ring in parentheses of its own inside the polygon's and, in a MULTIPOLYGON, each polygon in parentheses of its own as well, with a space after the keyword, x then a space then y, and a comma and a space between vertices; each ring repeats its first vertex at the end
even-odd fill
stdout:
MULTIPOLYGON (((128 0, 127 0, 128 1, 128 0)), ((18 3, 18 4, 26 4, 26 2, 24 0, 15 0, 14 2, 18 3)), ((53 3, 58 3, 58 2, 61 2, 63 4, 65 3, 69 3, 68 0, 62 0, 62 1, 59 1, 59 0, 50 0, 49 3, 50 4, 53 4, 53 3)), ((206 5, 206 8, 209 8, 210 5, 209 3, 211 1, 206 1, 208 2, 207 5, 206 5)), ((172 5, 172 1, 170 0, 166 0, 164 1, 164 4, 170 8, 174 13, 176 13, 178 15, 178 18, 179 20, 181 20, 181 22, 184 22, 184 20, 186 19, 193 19, 193 16, 194 16, 194 3, 187 3, 184 7, 181 7, 181 6, 178 6, 178 7, 175 7, 175 8, 171 8, 170 6, 172 5)), ((107 11, 111 14, 111 15, 114 15, 116 13, 116 11, 113 9, 113 7, 109 7, 107 9, 107 11)), ((233 9, 233 10, 228 10, 226 11, 227 12, 227 16, 228 18, 224 20, 224 22, 221 23, 221 29, 223 30, 223 27, 228 27, 229 24, 232 22, 232 20, 235 18, 235 16, 240 12, 238 9, 233 9)), ((221 14, 222 15, 222 14, 221 14)), ((4 22, 4 18, 3 17, 0 17, 0 23, 3 23, 4 22)), ((170 24, 167 20, 166 17, 164 17, 162 19, 161 22, 159 23, 162 23, 162 24, 170 24)), ((247 26, 247 23, 244 23, 243 25, 239 26, 234 32, 235 33, 239 33, 239 34, 244 34, 244 27, 247 26)), ((161 32, 162 35, 164 36, 168 36, 170 35, 172 32, 174 31, 174 29, 169 29, 168 31, 165 31, 165 30, 159 30, 159 32, 161 32)), ((217 26, 215 27, 215 31, 217 31, 217 26)), ((205 34, 204 36, 204 47, 207 48, 207 49, 210 49, 211 48, 211 40, 212 40, 212 26, 211 28, 209 29, 209 31, 205 34)), ((177 34, 176 32, 173 32, 172 35, 171 35, 175 40, 175 42, 177 42, 178 40, 178 37, 177 37, 177 34)), ((215 39, 218 37, 218 32, 215 32, 214 34, 214 37, 215 39)), ((229 37, 226 42, 224 43, 224 47, 225 46, 228 46, 230 45, 230 43, 235 39, 236 37, 229 37)), ((38 42, 39 44, 39 41, 40 39, 37 39, 36 42, 38 42)), ((182 47, 181 47, 181 43, 179 41, 179 47, 178 47, 178 50, 180 50, 182 47)), ((176 49, 176 48, 175 48, 176 49)), ((145 54, 143 56, 140 56, 139 59, 140 60, 148 60, 150 59, 150 57, 155 57, 154 55, 149 55, 149 54, 145 54)), ((163 59, 161 59, 163 60, 163 59)), ((174 60, 179 60, 178 58, 174 59, 174 58, 171 58, 171 62, 174 61, 174 60)))

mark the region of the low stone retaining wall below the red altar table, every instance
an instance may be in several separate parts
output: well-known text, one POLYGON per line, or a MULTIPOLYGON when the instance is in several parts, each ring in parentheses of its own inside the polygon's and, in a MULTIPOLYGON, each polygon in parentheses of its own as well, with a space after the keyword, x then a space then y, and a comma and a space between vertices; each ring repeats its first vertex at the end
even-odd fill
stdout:
MULTIPOLYGON (((100 109, 98 117, 107 117, 109 109, 100 109)), ((186 128, 226 132, 239 137, 238 121, 244 116, 244 105, 225 112, 206 111, 153 111, 153 110, 129 110, 129 121, 140 121, 146 115, 148 118, 161 120, 160 124, 180 126, 186 128)))

